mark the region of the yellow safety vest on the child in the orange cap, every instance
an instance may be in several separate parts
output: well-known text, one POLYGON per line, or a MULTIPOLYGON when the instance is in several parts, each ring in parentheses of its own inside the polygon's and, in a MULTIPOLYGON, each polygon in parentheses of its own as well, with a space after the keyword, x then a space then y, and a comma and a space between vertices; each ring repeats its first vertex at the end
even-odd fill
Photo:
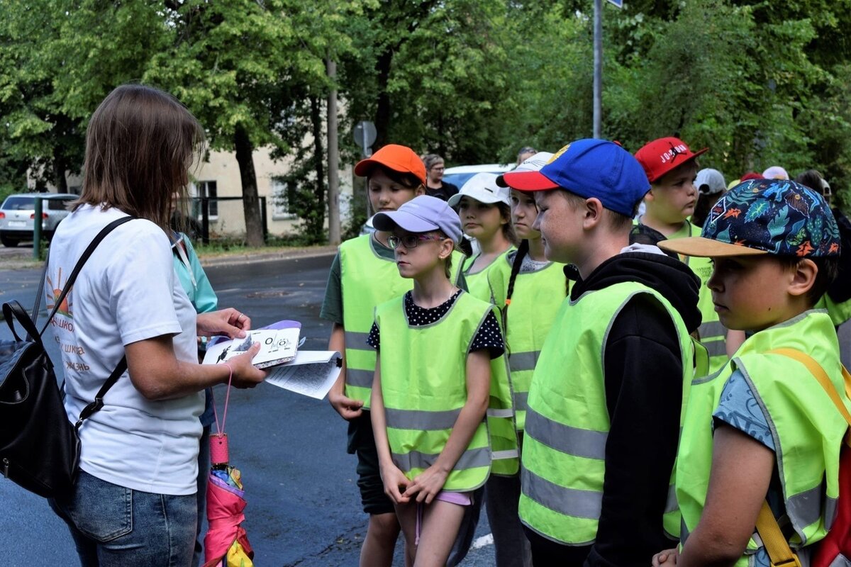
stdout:
MULTIPOLYGON (((463 258, 460 252, 453 252, 453 281, 458 280, 463 258)), ((366 340, 375 306, 413 289, 414 281, 399 275, 392 259, 380 256, 372 235, 363 235, 340 244, 340 286, 346 330, 346 396, 363 401, 363 409, 368 410, 375 349, 366 340)))

